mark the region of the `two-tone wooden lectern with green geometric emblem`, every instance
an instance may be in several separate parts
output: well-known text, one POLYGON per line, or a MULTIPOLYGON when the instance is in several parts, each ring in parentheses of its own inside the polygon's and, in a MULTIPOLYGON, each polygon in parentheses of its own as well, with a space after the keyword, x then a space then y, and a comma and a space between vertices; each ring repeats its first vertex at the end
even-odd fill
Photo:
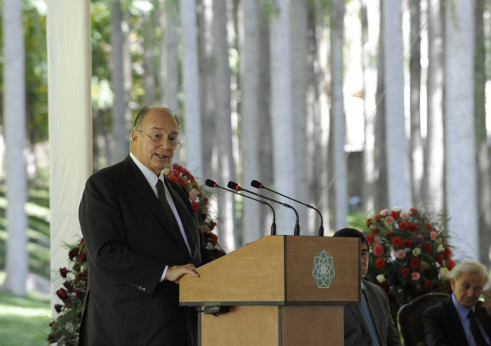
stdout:
POLYGON ((200 346, 340 346, 343 305, 360 304, 360 239, 268 236, 196 272, 180 281, 180 305, 231 306, 199 314, 200 346), (312 274, 323 250, 335 270, 329 288, 312 274))

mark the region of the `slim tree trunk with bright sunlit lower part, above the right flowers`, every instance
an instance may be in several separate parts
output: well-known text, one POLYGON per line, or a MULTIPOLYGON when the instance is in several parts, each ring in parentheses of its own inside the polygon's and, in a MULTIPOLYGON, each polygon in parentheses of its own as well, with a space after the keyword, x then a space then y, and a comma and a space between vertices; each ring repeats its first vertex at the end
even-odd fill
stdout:
POLYGON ((410 29, 410 114, 411 114, 411 178, 413 205, 421 205, 422 183, 424 172, 423 139, 421 135, 421 35, 419 27, 421 22, 421 0, 411 0, 411 29, 410 29))

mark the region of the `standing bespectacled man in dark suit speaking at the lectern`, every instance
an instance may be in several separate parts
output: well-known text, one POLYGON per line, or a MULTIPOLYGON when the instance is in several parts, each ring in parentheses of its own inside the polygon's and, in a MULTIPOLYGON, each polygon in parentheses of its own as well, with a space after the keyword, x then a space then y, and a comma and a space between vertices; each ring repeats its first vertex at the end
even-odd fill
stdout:
POLYGON ((88 260, 79 345, 196 345, 197 313, 179 306, 177 284, 199 277, 194 269, 213 255, 186 189, 163 178, 177 135, 170 109, 144 107, 128 157, 88 178, 79 208, 88 260))

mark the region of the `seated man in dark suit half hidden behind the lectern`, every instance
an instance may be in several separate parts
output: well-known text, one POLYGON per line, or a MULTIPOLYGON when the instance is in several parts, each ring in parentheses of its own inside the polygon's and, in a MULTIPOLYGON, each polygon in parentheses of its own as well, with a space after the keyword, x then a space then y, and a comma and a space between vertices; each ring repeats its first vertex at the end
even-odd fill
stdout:
MULTIPOLYGON (((339 229, 333 237, 361 239, 361 277, 368 271, 368 241, 353 228, 339 229)), ((344 306, 344 346, 401 346, 384 290, 362 280, 361 305, 344 306)))

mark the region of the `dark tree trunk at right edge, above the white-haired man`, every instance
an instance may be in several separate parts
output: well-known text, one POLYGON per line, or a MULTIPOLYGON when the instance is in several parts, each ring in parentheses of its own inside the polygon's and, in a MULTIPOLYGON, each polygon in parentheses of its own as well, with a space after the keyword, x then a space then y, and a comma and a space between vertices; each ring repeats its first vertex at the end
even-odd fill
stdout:
POLYGON ((474 53, 474 88, 476 102, 476 150, 478 172, 478 206, 479 206, 479 262, 489 267, 491 246, 491 178, 490 162, 487 155, 487 131, 485 109, 485 44, 484 44, 484 0, 475 0, 474 15, 476 19, 476 46, 474 53))

